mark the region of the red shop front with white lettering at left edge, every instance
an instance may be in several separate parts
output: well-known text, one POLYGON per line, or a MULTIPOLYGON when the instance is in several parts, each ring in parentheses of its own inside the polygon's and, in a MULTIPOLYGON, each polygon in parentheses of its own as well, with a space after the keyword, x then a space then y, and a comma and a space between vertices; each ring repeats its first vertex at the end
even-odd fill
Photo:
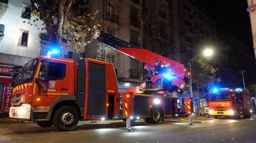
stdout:
POLYGON ((9 113, 12 88, 9 68, 0 66, 0 113, 9 113))

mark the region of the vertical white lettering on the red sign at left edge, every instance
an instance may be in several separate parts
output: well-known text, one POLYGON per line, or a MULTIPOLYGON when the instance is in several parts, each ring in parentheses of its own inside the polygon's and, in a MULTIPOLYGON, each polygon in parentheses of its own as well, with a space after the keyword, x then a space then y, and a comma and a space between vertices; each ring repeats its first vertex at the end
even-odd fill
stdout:
POLYGON ((8 113, 10 109, 11 103, 11 84, 6 83, 4 87, 4 96, 3 96, 3 104, 2 104, 2 112, 8 113))

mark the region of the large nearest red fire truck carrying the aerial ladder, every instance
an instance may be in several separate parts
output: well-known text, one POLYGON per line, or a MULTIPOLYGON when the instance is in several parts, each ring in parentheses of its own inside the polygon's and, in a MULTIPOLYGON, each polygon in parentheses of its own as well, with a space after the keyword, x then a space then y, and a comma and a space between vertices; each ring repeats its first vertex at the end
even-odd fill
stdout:
MULTIPOLYGON (((128 91, 134 109, 129 118, 160 123, 164 117, 171 117, 170 95, 183 89, 188 81, 184 65, 142 48, 117 50, 151 66, 155 66, 156 60, 170 63, 165 73, 151 77, 152 88, 143 83, 128 91)), ((51 53, 58 51, 52 49, 51 53)), ((122 119, 122 96, 126 95, 120 96, 116 73, 109 62, 38 56, 23 67, 14 68, 9 116, 70 131, 78 120, 122 119)), ((123 106, 127 108, 127 104, 123 106)))

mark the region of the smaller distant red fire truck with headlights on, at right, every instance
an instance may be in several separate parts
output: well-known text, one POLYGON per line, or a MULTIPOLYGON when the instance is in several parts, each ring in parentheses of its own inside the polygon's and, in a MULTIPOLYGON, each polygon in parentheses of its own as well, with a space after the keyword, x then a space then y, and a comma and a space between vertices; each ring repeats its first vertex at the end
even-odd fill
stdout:
POLYGON ((217 118, 227 116, 240 118, 251 117, 250 95, 246 89, 214 88, 209 99, 209 115, 217 118))

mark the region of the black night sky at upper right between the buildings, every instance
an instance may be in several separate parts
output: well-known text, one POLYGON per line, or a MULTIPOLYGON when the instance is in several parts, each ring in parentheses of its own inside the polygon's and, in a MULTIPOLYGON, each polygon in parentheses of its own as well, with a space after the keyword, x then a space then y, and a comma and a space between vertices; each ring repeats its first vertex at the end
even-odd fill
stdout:
POLYGON ((220 33, 234 35, 244 44, 252 47, 252 31, 246 0, 195 0, 217 23, 217 36, 220 33))

